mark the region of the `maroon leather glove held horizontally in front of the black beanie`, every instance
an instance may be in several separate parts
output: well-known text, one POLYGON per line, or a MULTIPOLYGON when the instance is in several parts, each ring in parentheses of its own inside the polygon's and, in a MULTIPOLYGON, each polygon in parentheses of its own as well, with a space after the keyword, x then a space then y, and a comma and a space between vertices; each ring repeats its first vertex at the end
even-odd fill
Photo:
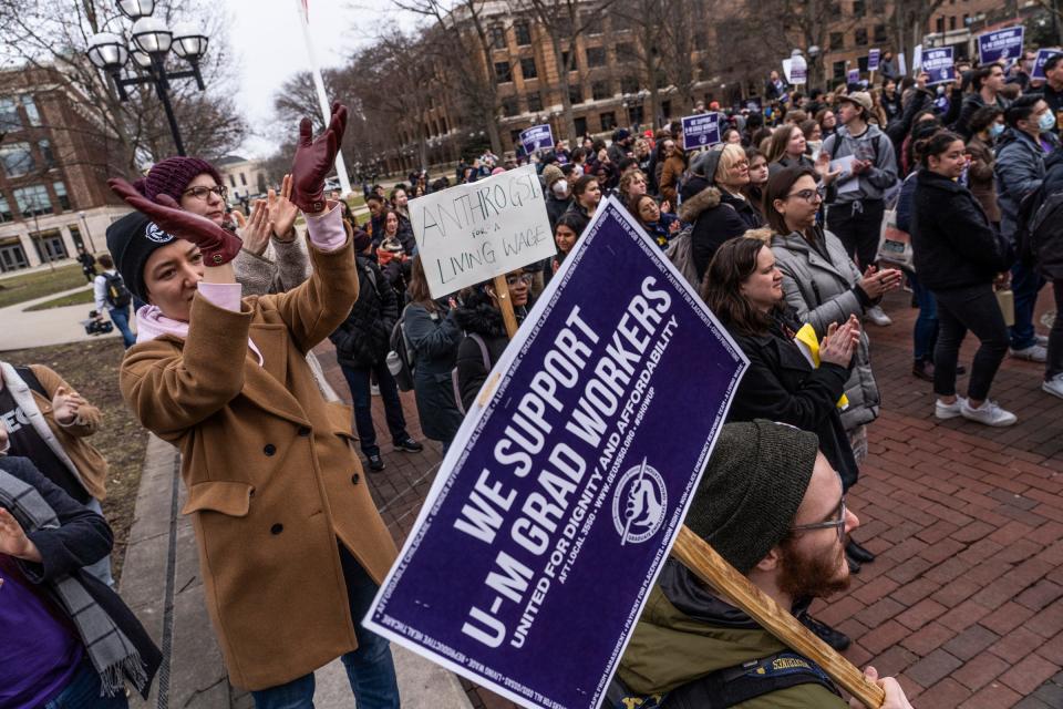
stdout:
POLYGON ((169 195, 158 195, 157 202, 152 202, 121 177, 112 177, 107 185, 131 207, 151 217, 158 228, 198 246, 207 266, 228 264, 240 253, 242 242, 235 234, 182 209, 169 195))

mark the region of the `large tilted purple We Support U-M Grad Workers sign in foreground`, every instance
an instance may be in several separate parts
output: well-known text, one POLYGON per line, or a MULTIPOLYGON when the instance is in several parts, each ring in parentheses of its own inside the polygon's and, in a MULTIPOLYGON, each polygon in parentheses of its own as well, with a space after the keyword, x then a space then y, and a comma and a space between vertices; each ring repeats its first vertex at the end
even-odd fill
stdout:
POLYGON ((605 202, 488 377, 368 625, 522 706, 596 709, 745 367, 605 202))

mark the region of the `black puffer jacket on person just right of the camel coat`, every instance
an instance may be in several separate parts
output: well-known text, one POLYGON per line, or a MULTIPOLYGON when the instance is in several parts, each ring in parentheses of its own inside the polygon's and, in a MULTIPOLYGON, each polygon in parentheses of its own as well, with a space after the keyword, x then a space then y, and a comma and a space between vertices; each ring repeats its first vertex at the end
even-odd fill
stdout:
POLYGON ((355 369, 384 361, 398 319, 399 298, 394 288, 372 259, 359 256, 358 300, 343 325, 329 336, 336 345, 337 361, 355 369))

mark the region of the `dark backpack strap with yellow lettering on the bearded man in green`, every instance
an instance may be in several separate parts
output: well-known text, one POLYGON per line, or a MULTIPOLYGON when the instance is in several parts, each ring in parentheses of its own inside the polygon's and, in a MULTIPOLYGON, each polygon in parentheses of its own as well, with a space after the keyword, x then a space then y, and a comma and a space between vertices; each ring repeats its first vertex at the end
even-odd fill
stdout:
POLYGON ((797 685, 816 684, 842 696, 823 668, 788 650, 720 669, 665 695, 632 693, 613 677, 599 709, 727 709, 797 685))

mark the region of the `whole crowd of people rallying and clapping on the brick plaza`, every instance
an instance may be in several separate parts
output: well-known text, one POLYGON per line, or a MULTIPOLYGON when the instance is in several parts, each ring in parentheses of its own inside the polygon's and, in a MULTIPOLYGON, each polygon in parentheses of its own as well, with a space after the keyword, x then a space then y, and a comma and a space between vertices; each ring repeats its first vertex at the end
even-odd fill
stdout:
MULTIPOLYGON (((1063 398, 1063 320, 1049 336, 1033 320, 1050 280, 1063 306, 1063 54, 1045 62, 1045 81, 1029 78, 1029 59, 960 64, 938 86, 894 71, 874 88, 802 92, 772 72, 764 107, 724 113, 712 147, 684 151, 673 123, 509 160, 485 151, 453 182, 419 172, 390 191, 365 184, 368 220, 324 189, 347 122, 339 104, 321 135, 300 124, 291 173, 248 214, 229 208, 199 158, 163 160, 133 185, 112 179, 135 210, 109 228, 102 273, 79 260, 128 349, 126 403, 182 453, 183 512, 233 682, 259 709, 310 707, 313 671, 341 657, 359 707, 399 706, 388 643, 359 623, 396 555, 354 453, 384 469, 372 397, 394 450, 417 452, 400 397, 412 389, 421 431, 445 452, 507 346, 503 298, 519 327, 607 195, 751 362, 688 526, 845 649, 808 607, 875 562, 845 500, 883 407, 865 326, 891 326, 884 297, 911 291, 911 372, 932 383, 937 418, 1015 423, 990 398, 1008 356, 1043 363, 1042 389, 1063 398), (527 162, 556 255, 506 274, 507 294, 486 281, 434 298, 410 201, 527 162), (979 347, 962 397, 968 331, 979 347), (326 339, 353 412, 311 351, 326 339)), ((124 707, 123 685, 146 696, 159 666, 111 588, 107 466, 85 441, 100 425, 56 372, 0 362, 0 637, 16 639, 0 649, 2 707, 124 707)), ((909 707, 894 679, 867 676, 885 707, 909 707)), ((609 706, 665 693, 674 706, 706 706, 706 695, 845 706, 822 668, 674 561, 609 706), (781 658, 804 669, 781 678, 781 658)))

